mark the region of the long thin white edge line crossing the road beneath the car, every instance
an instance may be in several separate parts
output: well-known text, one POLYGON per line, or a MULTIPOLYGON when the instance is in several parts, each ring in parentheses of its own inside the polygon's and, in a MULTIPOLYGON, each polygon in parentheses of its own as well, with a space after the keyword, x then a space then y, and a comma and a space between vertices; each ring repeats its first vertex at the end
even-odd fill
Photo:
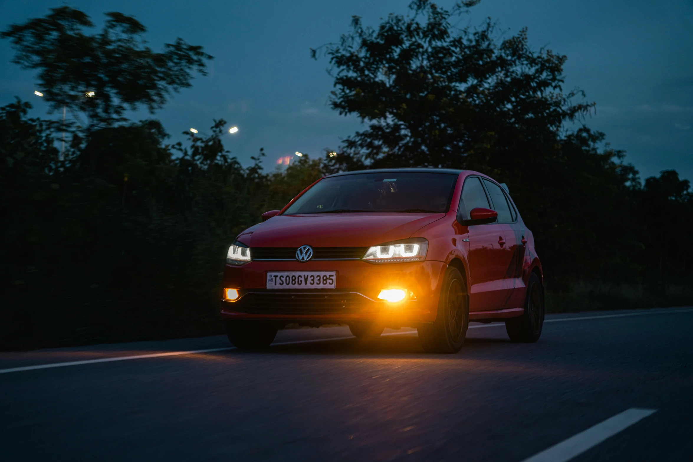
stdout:
MULTIPOLYGON (((688 308, 685 310, 666 310, 666 311, 653 311, 653 312, 637 312, 637 313, 623 313, 623 314, 604 314, 603 316, 584 316, 577 318, 561 318, 561 319, 545 319, 544 322, 559 322, 559 321, 580 321, 582 319, 602 319, 602 318, 615 318, 615 317, 625 317, 625 316, 640 316, 643 314, 663 314, 663 313, 685 313, 691 312, 693 308, 688 308)), ((505 323, 497 324, 482 324, 481 326, 469 326, 470 329, 484 328, 484 327, 505 327, 505 323)), ((406 335, 406 334, 416 334, 416 330, 406 330, 405 332, 389 332, 385 335, 406 335)), ((333 337, 327 339, 310 339, 310 340, 297 340, 297 341, 282 341, 277 344, 272 344, 272 346, 277 345, 295 345, 295 344, 310 344, 317 341, 329 341, 329 340, 347 340, 353 339, 354 337, 333 337)), ((150 357, 166 357, 166 356, 180 356, 180 355, 195 355, 197 353, 213 353, 215 351, 227 351, 234 350, 235 346, 229 346, 226 348, 210 348, 207 350, 190 350, 190 351, 168 351, 166 353, 152 353, 150 355, 135 355, 135 356, 117 356, 117 357, 105 357, 99 359, 85 359, 83 361, 70 361, 70 362, 54 362, 52 364, 37 364, 36 366, 22 366, 22 367, 12 367, 7 369, 0 369, 0 374, 6 374, 10 372, 21 372, 21 371, 35 371, 36 369, 49 369, 53 367, 65 367, 65 366, 80 366, 82 364, 96 364, 100 362, 113 362, 113 361, 126 361, 128 359, 146 359, 150 357)))

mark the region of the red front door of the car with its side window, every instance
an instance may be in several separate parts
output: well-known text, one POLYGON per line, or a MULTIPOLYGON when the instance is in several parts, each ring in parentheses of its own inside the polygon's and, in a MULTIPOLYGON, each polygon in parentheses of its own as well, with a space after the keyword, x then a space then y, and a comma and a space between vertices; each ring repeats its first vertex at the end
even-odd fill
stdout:
MULTIPOLYGON (((468 214, 473 208, 491 208, 480 177, 467 177, 462 188, 462 204, 468 214)), ((467 215, 468 217, 468 215, 467 215)), ((469 310, 488 311, 504 308, 507 249, 502 224, 468 226, 469 310)))

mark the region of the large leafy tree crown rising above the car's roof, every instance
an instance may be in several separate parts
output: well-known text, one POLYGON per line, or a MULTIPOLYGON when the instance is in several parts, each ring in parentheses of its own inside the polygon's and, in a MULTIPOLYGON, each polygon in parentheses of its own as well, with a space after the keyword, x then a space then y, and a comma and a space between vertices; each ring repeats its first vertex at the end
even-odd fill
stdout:
POLYGON ((572 103, 581 91, 562 92, 565 56, 532 51, 526 30, 498 40, 490 19, 451 24, 476 3, 448 11, 412 1, 412 15, 389 15, 377 30, 354 17, 351 33, 324 47, 331 107, 368 124, 331 159, 335 167, 493 168, 520 146, 532 155, 530 147, 552 145, 563 123, 588 114, 593 104, 572 103))

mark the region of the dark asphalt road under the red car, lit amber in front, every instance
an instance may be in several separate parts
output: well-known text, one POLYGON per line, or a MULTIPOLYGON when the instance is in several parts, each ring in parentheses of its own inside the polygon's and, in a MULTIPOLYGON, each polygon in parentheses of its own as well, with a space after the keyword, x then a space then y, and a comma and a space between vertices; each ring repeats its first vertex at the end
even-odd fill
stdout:
POLYGON ((693 308, 472 323, 457 355, 386 334, 0 353, 0 461, 693 461, 693 308))

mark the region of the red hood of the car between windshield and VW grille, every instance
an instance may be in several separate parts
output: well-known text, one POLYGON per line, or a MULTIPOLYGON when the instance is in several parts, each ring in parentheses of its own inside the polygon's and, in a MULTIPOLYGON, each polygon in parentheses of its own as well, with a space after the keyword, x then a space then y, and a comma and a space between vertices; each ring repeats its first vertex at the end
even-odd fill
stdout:
POLYGON ((369 247, 406 239, 444 213, 277 215, 238 236, 250 247, 369 247))

